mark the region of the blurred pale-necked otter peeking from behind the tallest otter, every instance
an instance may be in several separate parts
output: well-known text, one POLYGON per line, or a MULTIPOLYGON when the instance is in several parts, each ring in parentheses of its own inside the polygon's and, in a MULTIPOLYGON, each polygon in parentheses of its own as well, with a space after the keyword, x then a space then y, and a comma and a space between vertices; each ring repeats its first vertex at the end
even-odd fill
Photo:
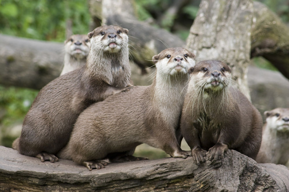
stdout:
POLYGON ((63 75, 86 64, 86 57, 90 49, 90 41, 87 35, 71 35, 64 41, 64 66, 60 73, 63 75))

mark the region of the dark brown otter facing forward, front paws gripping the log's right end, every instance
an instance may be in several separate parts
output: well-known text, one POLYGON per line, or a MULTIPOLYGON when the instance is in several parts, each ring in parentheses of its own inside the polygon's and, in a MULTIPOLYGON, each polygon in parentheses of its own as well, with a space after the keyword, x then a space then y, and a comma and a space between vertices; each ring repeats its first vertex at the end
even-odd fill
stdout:
POLYGON ((196 164, 220 162, 228 149, 256 158, 262 138, 259 111, 231 82, 230 67, 205 60, 189 69, 180 129, 196 164), (221 157, 221 158, 220 158, 221 157))

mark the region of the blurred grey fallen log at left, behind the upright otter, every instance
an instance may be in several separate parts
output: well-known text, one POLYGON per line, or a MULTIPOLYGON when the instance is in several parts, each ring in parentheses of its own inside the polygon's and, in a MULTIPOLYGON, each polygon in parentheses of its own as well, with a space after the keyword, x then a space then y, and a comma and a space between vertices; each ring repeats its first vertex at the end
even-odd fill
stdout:
POLYGON ((0 83, 41 89, 60 75, 63 43, 0 35, 0 83))

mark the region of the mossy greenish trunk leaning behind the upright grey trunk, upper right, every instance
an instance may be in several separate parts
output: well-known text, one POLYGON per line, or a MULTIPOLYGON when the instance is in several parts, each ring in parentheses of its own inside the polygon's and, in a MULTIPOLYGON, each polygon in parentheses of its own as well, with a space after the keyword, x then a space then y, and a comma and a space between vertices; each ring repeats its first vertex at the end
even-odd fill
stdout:
POLYGON ((254 10, 251 57, 264 57, 289 79, 289 27, 260 2, 254 10))

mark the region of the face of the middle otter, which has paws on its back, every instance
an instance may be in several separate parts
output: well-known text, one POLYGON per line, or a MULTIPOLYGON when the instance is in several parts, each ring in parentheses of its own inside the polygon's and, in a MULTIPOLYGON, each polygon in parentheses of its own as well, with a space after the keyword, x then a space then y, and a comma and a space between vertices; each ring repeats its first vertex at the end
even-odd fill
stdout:
POLYGON ((195 65, 195 55, 181 47, 168 48, 153 56, 158 73, 166 75, 188 74, 188 69, 195 65))

